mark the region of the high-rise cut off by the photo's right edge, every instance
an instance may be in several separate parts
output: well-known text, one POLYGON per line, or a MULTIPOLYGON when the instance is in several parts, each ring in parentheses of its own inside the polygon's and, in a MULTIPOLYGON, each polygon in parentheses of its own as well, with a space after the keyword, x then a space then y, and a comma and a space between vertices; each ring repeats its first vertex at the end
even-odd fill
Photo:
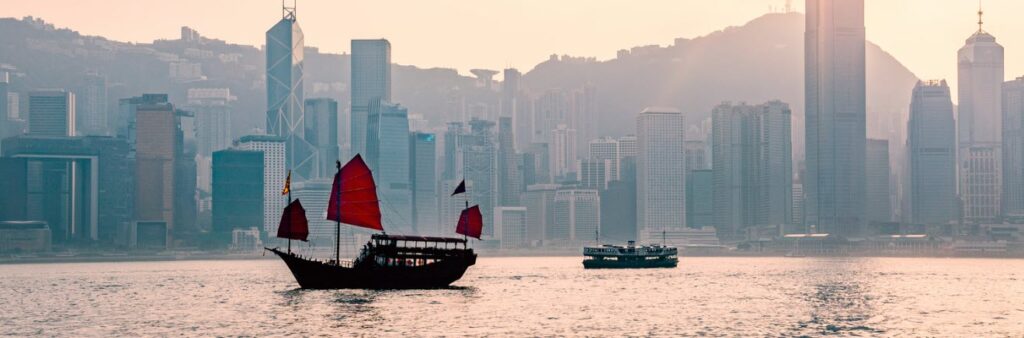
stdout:
POLYGON ((1002 215, 1024 216, 1024 77, 1002 83, 1002 215))

